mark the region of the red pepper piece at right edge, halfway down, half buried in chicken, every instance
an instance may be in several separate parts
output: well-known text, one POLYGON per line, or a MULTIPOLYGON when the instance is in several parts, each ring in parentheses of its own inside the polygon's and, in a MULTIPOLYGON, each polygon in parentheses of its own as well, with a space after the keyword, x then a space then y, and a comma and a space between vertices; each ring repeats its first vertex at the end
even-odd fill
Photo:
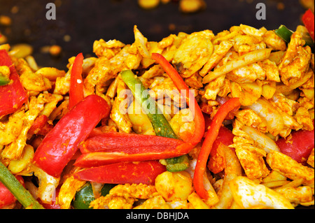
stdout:
MULTIPOLYGON (((313 121, 314 123, 314 121, 313 121)), ((307 158, 314 149, 314 129, 312 131, 298 130, 290 134, 289 140, 279 138, 276 141, 280 151, 295 161, 306 165, 307 158)))

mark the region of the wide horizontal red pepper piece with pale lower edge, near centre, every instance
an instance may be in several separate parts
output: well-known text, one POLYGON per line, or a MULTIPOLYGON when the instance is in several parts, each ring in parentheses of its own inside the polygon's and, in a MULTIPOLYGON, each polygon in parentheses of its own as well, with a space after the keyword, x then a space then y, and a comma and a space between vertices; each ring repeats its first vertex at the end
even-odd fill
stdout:
POLYGON ((92 167, 120 161, 148 161, 187 154, 193 145, 174 138, 109 132, 87 138, 75 166, 92 167))

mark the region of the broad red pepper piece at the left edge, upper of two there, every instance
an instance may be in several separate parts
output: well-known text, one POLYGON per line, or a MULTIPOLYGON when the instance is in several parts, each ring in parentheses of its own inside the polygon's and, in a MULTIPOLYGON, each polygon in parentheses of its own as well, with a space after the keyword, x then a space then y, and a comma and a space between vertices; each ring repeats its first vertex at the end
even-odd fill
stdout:
POLYGON ((27 93, 6 50, 0 50, 0 66, 10 68, 11 80, 8 85, 0 86, 0 117, 2 117, 17 111, 27 101, 27 93))

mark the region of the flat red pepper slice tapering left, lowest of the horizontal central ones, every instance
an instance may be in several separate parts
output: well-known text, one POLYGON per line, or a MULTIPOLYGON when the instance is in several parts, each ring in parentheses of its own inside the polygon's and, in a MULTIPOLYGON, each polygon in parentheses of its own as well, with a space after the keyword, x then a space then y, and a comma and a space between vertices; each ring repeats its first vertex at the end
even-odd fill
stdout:
POLYGON ((142 183, 153 185, 155 178, 166 171, 166 167, 159 161, 121 162, 83 169, 74 173, 73 177, 78 180, 106 184, 142 183))

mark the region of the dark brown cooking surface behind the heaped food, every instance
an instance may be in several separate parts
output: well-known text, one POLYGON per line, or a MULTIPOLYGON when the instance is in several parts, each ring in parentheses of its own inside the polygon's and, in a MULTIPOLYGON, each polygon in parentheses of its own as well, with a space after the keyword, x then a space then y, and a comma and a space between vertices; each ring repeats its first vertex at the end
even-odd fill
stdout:
POLYGON ((0 0, 0 15, 12 19, 11 26, 0 25, 0 31, 8 37, 11 45, 33 45, 38 65, 65 69, 67 59, 78 52, 93 55, 92 44, 96 39, 109 41, 116 38, 123 43, 133 43, 134 24, 149 41, 160 41, 179 31, 191 33, 211 29, 216 34, 241 23, 267 29, 286 24, 295 29, 303 12, 298 0, 208 0, 205 10, 193 14, 180 13, 179 3, 175 1, 144 10, 139 8, 137 0, 0 0), (48 2, 56 2, 56 20, 45 18, 48 2), (60 6, 58 2, 61 2, 60 6), (259 2, 266 3, 267 20, 259 21, 255 17, 255 6, 259 2), (283 10, 277 9, 279 3, 284 4, 283 10), (18 13, 11 12, 13 6, 18 6, 18 13), (171 31, 169 24, 174 24, 175 29, 171 31), (71 41, 64 41, 66 35, 71 37, 71 41), (51 44, 62 46, 60 57, 53 58, 40 52, 43 45, 51 44))

